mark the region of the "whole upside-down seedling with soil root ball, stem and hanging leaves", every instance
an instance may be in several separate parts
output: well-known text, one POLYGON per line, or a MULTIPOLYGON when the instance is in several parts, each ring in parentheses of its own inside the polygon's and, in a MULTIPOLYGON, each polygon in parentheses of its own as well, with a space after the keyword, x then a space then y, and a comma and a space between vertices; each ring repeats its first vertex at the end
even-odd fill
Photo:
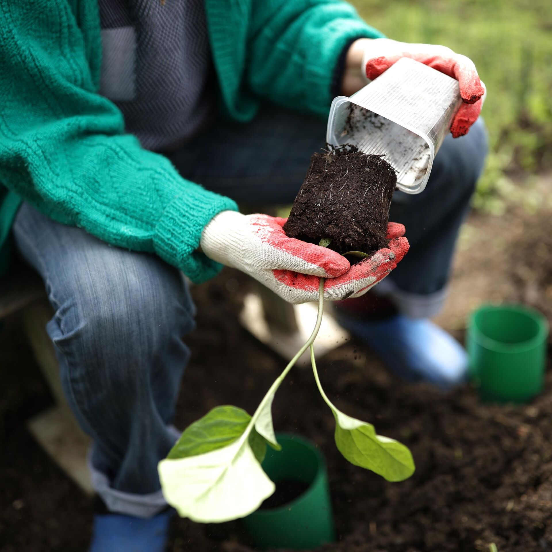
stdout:
MULTIPOLYGON (((331 245, 362 261, 371 251, 387 245, 385 232, 395 183, 395 172, 380 156, 367 156, 345 146, 315 153, 284 230, 307 241, 318 236, 315 243, 320 246, 331 245), (366 188, 367 181, 371 187, 366 188), (370 219, 367 211, 375 215, 370 219)), ((217 406, 185 429, 159 463, 163 495, 182 517, 204 523, 230 521, 247 516, 272 495, 274 483, 261 466, 267 445, 280 449, 272 401, 285 376, 309 348, 316 385, 336 420, 339 452, 352 464, 388 481, 402 481, 413 474, 414 461, 405 445, 378 435, 370 423, 341 412, 322 389, 312 345, 322 322, 323 290, 321 279, 311 336, 270 386, 253 416, 236 406, 217 406)))

